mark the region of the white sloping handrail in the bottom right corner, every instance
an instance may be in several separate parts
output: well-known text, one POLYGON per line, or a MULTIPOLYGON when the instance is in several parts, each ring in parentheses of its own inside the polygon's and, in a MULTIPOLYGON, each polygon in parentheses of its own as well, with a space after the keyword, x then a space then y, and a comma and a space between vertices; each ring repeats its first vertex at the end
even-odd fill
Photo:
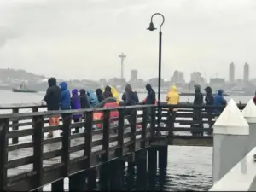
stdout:
POLYGON ((253 148, 236 166, 227 172, 209 191, 255 191, 256 162, 253 161, 256 147, 253 148))

